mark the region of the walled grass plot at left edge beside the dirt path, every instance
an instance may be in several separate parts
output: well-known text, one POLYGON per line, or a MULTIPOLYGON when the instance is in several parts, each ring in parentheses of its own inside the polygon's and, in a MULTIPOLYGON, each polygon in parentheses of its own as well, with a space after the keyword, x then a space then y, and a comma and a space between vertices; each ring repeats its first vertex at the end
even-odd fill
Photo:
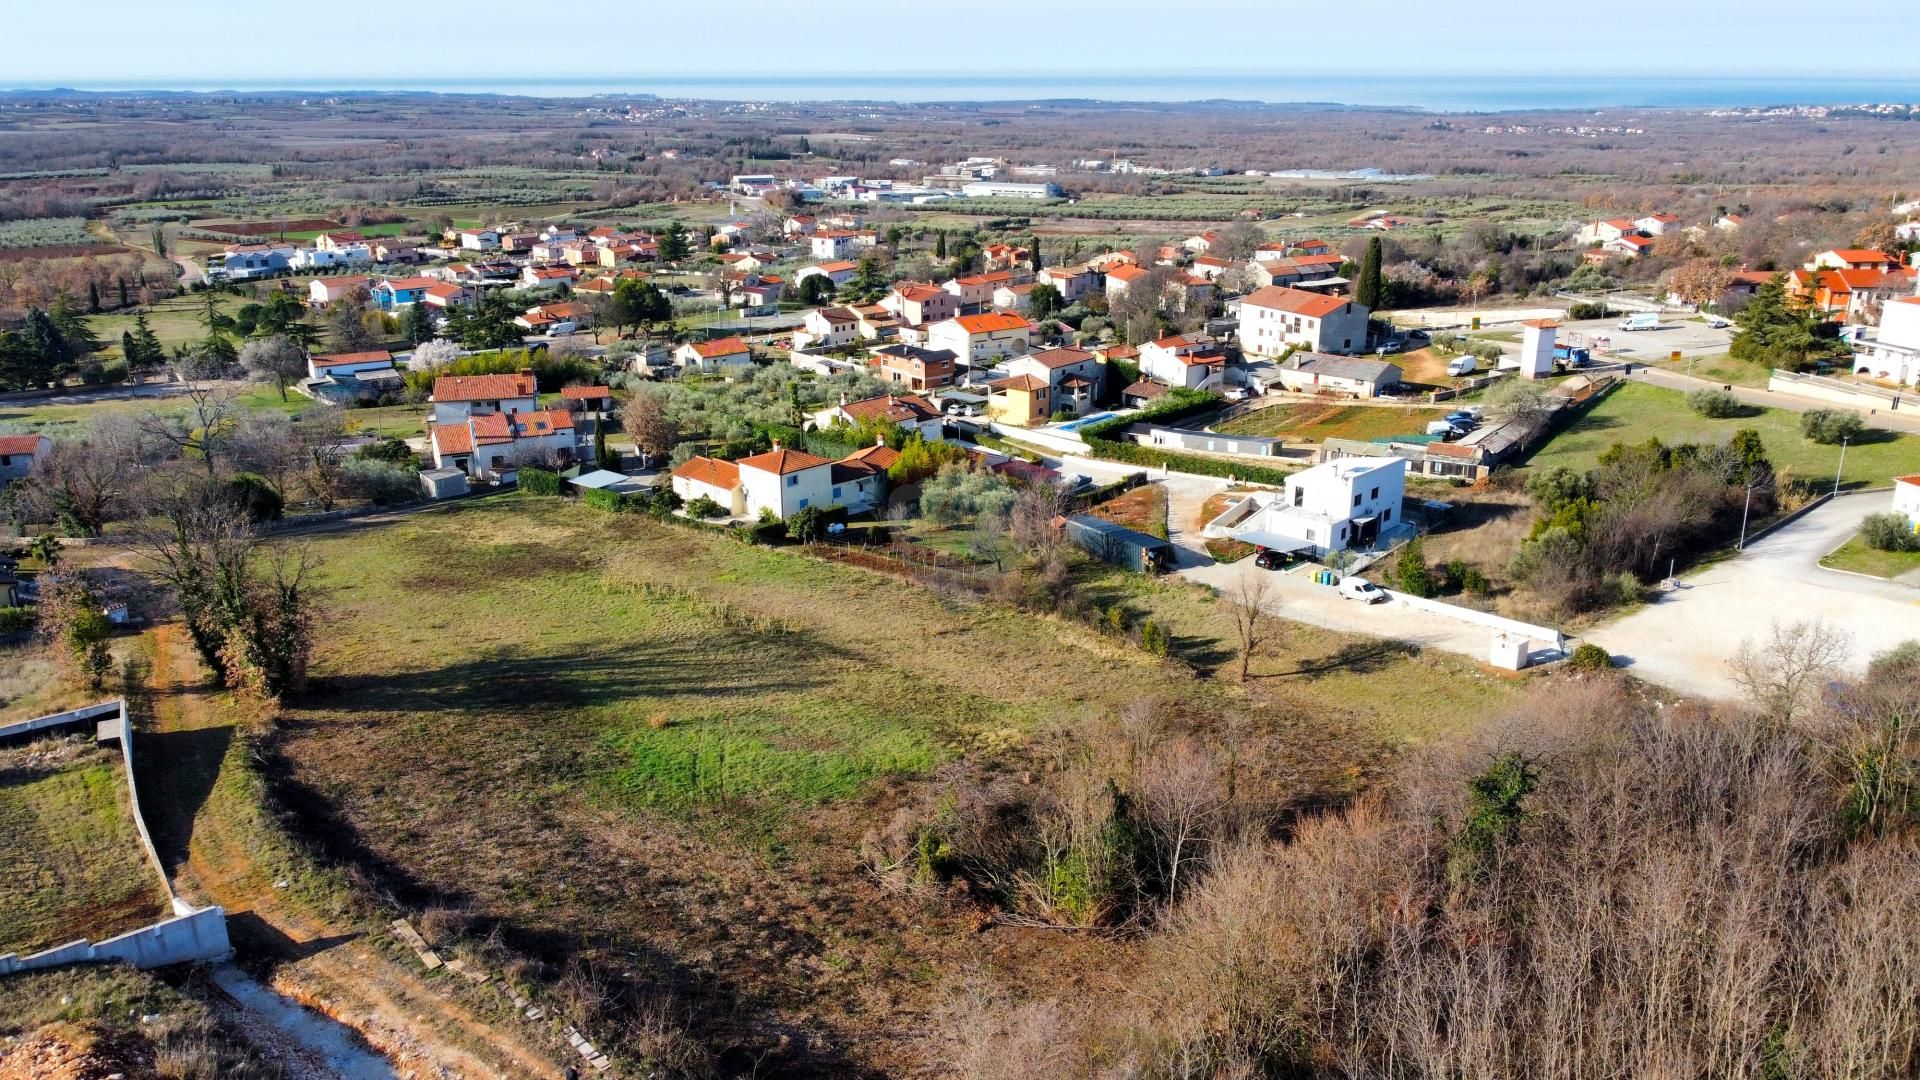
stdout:
POLYGON ((92 746, 46 765, 0 753, 0 953, 106 938, 165 917, 140 851, 119 759, 92 746))

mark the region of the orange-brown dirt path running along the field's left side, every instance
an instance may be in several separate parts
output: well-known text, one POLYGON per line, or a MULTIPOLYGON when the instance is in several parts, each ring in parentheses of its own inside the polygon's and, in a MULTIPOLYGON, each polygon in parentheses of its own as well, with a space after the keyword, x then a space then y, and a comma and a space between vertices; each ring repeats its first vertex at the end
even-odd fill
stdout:
MULTIPOLYGON (((152 736, 140 784, 161 859, 182 896, 227 907, 242 959, 273 961, 267 986, 359 1032, 392 1076, 559 1080, 545 1053, 482 1020, 359 938, 296 909, 259 865, 244 822, 253 813, 219 788, 238 719, 200 678, 184 630, 154 630, 152 736)), ((242 799, 244 801, 244 799, 242 799)), ((282 1026, 284 1017, 257 1017, 282 1026)), ((367 1076, 363 1059, 353 1076, 367 1076)))

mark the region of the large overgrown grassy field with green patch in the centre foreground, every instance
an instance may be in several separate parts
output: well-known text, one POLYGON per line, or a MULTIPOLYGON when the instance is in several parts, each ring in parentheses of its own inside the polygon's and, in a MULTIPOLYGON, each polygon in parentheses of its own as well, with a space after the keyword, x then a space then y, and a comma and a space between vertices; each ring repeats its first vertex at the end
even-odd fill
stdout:
MULTIPOLYGON (((964 972, 1108 978, 1129 951, 975 936, 968 905, 879 890, 862 836, 908 799, 1043 774, 1135 701, 1233 715, 1244 784, 1340 799, 1390 744, 1511 701, 1471 665, 1306 628, 1242 690, 1046 615, 561 500, 311 552, 332 617, 278 769, 326 855, 541 959, 672 986, 708 1045, 818 1032, 816 1074, 924 1065, 912 1017, 964 972)), ((1081 588, 1162 619, 1202 671, 1231 659, 1202 590, 1104 567, 1081 588)))

